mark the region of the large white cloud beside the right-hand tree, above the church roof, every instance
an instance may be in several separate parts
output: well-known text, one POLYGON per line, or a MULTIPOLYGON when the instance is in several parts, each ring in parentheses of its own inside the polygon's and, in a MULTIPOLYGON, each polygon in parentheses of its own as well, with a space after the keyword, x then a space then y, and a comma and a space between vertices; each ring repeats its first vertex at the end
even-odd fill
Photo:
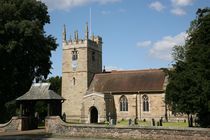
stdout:
POLYGON ((149 54, 152 57, 162 60, 172 60, 171 51, 175 45, 183 45, 187 34, 181 32, 176 36, 165 36, 161 40, 153 43, 153 47, 150 49, 149 54))

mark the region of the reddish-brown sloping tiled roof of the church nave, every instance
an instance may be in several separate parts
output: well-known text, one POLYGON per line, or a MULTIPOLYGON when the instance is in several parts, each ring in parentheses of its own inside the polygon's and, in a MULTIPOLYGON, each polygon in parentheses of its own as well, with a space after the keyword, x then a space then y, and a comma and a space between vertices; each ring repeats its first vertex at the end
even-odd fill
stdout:
POLYGON ((163 92, 165 73, 160 69, 112 71, 96 74, 87 94, 92 92, 163 92))

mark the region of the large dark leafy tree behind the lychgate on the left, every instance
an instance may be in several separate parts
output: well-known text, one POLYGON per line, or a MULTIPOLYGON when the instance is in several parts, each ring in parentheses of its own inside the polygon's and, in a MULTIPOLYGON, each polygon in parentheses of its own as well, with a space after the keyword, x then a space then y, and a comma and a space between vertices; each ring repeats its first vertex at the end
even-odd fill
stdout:
POLYGON ((5 116, 6 102, 28 91, 34 79, 47 78, 57 44, 44 31, 50 23, 45 4, 1 0, 0 5, 0 114, 5 116))

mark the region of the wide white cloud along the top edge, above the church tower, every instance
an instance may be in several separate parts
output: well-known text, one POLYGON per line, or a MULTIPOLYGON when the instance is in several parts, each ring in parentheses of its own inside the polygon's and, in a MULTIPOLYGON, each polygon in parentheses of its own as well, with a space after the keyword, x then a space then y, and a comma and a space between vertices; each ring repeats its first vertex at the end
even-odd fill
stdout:
POLYGON ((50 10, 69 10, 74 7, 84 6, 91 3, 108 4, 115 3, 121 0, 40 0, 44 2, 50 10))

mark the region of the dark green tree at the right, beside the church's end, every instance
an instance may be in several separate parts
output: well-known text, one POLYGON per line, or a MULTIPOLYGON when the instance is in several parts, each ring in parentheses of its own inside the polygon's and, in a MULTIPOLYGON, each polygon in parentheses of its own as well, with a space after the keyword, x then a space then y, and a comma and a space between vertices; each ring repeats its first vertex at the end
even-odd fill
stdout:
POLYGON ((166 102, 188 116, 197 114, 201 126, 210 126, 210 8, 198 9, 188 40, 181 49, 175 47, 173 56, 166 102))

